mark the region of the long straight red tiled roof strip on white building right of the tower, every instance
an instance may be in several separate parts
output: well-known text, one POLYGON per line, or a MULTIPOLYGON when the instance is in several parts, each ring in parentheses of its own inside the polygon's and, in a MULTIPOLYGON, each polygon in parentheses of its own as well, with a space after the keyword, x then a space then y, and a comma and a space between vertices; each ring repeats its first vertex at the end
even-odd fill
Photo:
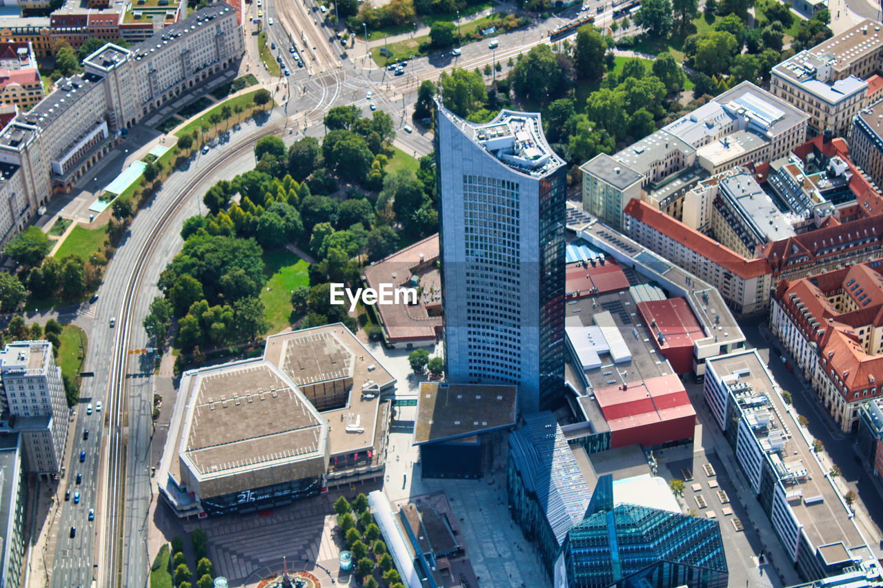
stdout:
POLYGON ((744 280, 770 273, 769 264, 763 258, 748 260, 698 230, 656 210, 641 200, 630 200, 623 213, 645 223, 663 235, 675 239, 691 251, 742 277, 744 280))

